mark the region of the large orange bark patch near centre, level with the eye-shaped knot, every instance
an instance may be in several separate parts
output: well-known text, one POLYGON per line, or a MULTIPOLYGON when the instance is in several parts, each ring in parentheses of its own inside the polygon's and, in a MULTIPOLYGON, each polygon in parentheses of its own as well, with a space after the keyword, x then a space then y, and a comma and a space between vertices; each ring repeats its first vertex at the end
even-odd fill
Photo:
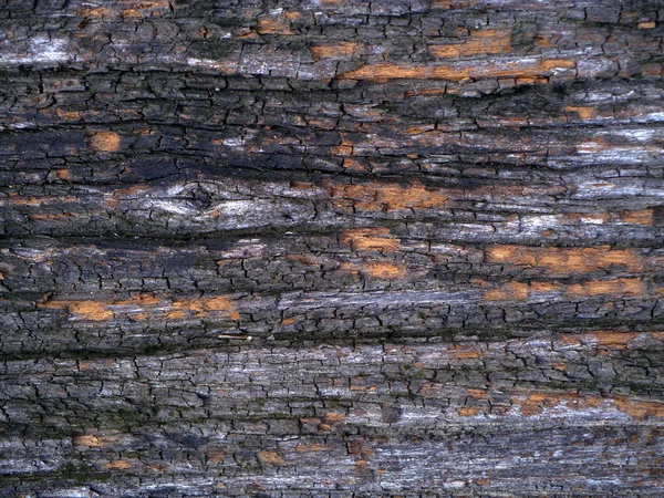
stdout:
POLYGON ((448 197, 440 189, 428 189, 418 181, 402 186, 397 184, 328 184, 336 207, 352 206, 370 211, 401 209, 432 209, 445 206, 448 197))

